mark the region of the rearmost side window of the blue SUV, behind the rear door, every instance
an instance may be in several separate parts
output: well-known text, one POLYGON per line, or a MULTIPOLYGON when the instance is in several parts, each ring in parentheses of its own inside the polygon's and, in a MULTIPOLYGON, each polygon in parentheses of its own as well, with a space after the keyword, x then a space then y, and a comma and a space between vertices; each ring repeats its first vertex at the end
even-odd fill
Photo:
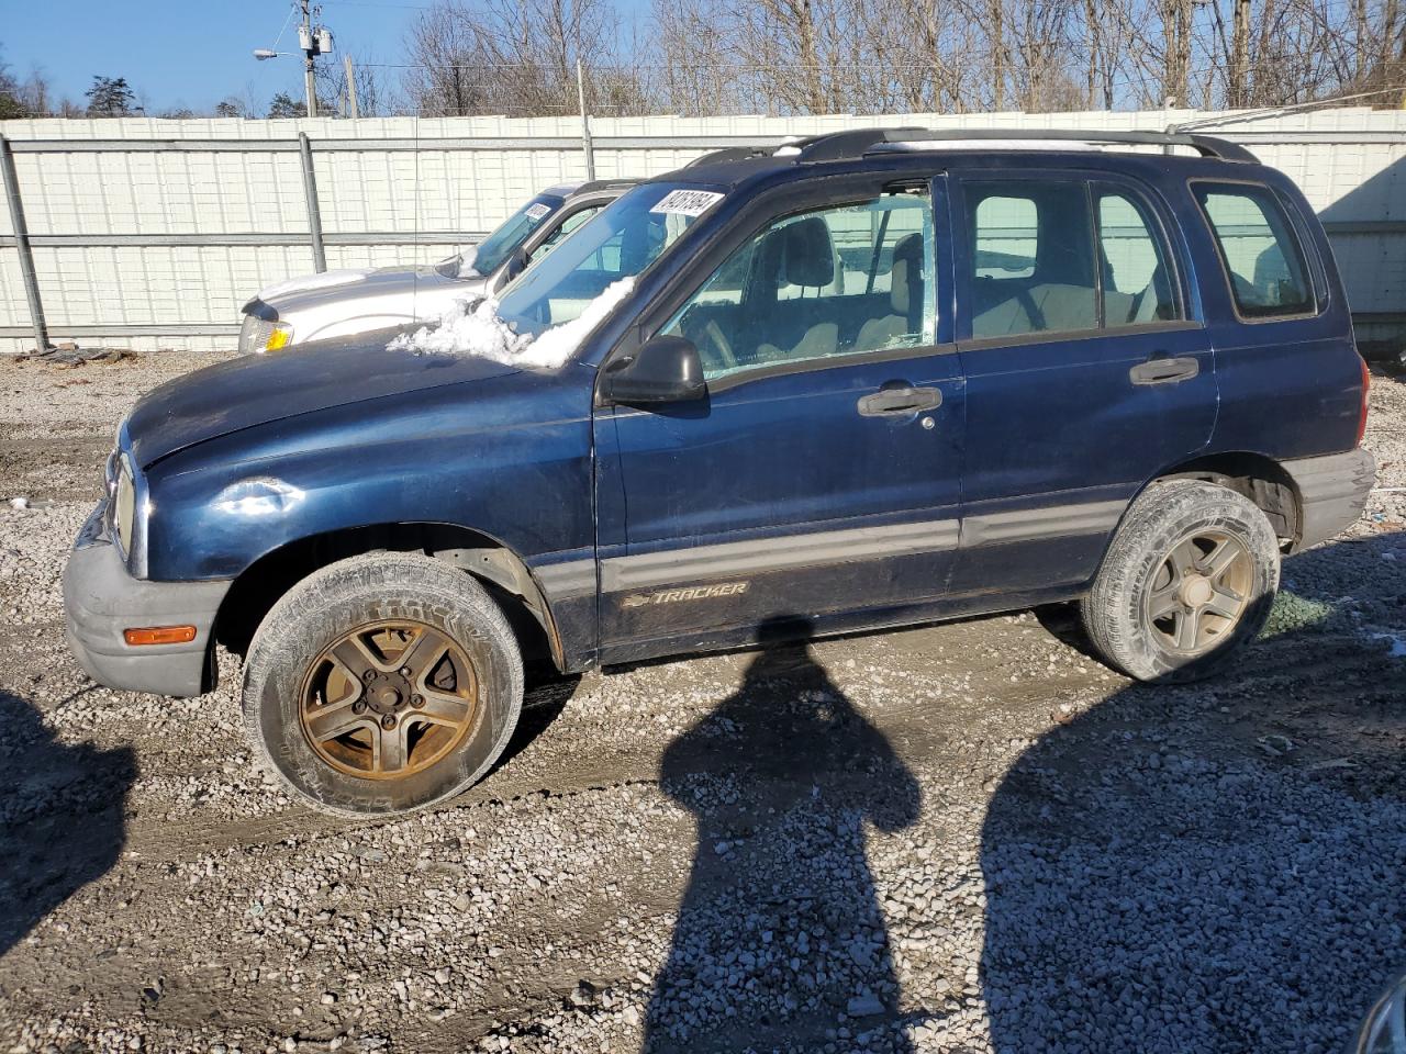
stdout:
POLYGON ((1192 188, 1211 222, 1240 315, 1312 313, 1303 247, 1274 191, 1233 183, 1194 183, 1192 188))

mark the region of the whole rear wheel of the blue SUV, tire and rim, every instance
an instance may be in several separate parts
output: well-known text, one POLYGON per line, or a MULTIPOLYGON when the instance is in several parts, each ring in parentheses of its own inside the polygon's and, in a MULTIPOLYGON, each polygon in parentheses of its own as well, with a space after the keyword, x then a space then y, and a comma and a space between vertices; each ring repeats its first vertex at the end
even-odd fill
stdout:
POLYGON ((1279 544, 1258 506, 1215 483, 1157 482, 1114 535, 1081 601, 1084 630, 1137 680, 1197 680, 1264 628, 1278 585, 1279 544))

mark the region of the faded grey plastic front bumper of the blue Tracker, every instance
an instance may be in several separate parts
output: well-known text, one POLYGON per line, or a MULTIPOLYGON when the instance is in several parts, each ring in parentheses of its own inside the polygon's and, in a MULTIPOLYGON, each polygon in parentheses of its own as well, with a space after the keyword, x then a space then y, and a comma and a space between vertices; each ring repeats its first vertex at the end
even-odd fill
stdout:
POLYGON ((142 582, 127 571, 101 502, 79 531, 63 568, 69 648, 93 680, 160 696, 198 696, 214 686, 211 627, 229 582, 142 582), (134 648, 124 630, 194 625, 190 644, 134 648))

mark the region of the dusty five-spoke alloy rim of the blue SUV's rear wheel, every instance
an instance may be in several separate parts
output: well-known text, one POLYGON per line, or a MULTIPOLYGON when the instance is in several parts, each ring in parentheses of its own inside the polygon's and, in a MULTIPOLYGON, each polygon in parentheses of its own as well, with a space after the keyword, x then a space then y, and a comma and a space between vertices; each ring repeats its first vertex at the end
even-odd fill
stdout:
POLYGON ((1163 559, 1147 592, 1147 624, 1167 651, 1199 655, 1234 632, 1254 580, 1243 541, 1225 531, 1198 531, 1163 559))

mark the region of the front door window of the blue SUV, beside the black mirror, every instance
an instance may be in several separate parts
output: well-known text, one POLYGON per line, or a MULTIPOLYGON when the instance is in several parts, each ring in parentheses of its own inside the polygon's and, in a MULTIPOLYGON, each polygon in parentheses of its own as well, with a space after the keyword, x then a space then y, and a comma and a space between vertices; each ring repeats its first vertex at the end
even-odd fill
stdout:
POLYGON ((706 378, 936 341, 932 204, 882 194, 768 225, 662 333, 692 340, 706 378))

